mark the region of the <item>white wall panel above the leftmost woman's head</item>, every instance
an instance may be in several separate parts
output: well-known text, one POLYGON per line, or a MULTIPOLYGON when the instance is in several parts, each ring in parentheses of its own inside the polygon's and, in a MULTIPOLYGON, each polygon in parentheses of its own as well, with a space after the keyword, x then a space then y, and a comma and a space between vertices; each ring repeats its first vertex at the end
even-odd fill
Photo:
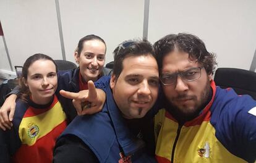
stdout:
POLYGON ((37 52, 62 59, 54 1, 1 0, 0 20, 13 66, 37 52))

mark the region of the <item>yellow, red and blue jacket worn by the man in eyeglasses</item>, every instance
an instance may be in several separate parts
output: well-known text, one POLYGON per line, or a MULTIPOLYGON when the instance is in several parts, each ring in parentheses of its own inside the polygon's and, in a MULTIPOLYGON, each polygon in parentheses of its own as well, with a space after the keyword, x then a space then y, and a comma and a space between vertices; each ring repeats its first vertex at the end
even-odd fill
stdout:
POLYGON ((158 162, 254 162, 256 101, 211 82, 213 97, 193 120, 179 124, 165 109, 155 116, 158 162))

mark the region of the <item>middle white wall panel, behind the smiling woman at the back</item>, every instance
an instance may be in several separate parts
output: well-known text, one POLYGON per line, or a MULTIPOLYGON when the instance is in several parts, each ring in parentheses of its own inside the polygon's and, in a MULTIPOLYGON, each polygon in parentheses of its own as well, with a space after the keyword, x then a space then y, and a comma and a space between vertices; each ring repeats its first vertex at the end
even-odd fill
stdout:
POLYGON ((106 63, 124 40, 142 38, 143 0, 89 1, 59 0, 66 58, 74 62, 74 49, 80 38, 95 34, 106 41, 106 63))

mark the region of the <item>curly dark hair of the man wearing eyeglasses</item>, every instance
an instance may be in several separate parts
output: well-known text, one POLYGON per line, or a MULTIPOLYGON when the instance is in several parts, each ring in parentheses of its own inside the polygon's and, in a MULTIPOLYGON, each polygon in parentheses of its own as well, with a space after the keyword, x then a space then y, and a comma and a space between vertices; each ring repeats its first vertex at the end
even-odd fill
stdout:
POLYGON ((156 41, 153 46, 160 73, 163 67, 164 56, 169 52, 173 52, 175 49, 181 52, 187 52, 189 59, 196 60, 198 64, 202 65, 208 75, 213 74, 215 70, 217 64, 216 55, 208 52, 203 41, 195 35, 188 33, 167 35, 156 41))

